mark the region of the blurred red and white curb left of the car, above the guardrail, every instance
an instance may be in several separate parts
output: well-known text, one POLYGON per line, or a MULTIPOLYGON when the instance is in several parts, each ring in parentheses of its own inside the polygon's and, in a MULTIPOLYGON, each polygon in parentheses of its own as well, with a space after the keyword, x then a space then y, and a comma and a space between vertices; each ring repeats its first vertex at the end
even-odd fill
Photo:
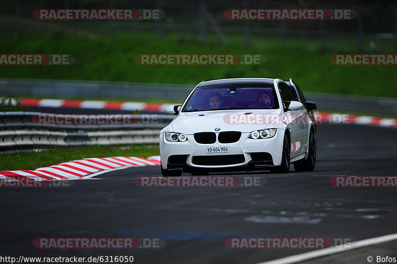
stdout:
POLYGON ((62 100, 62 99, 32 99, 22 98, 23 106, 40 107, 72 107, 84 109, 113 109, 127 111, 165 111, 172 104, 144 103, 144 102, 115 102, 115 101, 91 101, 91 100, 62 100))

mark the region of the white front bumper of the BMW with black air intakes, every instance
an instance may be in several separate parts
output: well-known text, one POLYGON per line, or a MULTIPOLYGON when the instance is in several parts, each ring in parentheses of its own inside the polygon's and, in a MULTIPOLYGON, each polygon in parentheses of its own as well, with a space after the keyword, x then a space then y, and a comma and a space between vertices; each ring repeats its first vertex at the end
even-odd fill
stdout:
POLYGON ((277 129, 274 137, 264 139, 251 139, 248 135, 249 133, 242 133, 240 139, 234 143, 219 143, 216 139, 213 144, 199 144, 193 134, 187 135, 187 141, 170 142, 165 139, 164 133, 160 133, 161 165, 164 169, 183 168, 188 171, 190 168, 201 168, 216 171, 281 164, 284 131, 277 129), (207 146, 227 146, 228 152, 207 153, 207 146), (204 165, 208 163, 216 165, 204 165))

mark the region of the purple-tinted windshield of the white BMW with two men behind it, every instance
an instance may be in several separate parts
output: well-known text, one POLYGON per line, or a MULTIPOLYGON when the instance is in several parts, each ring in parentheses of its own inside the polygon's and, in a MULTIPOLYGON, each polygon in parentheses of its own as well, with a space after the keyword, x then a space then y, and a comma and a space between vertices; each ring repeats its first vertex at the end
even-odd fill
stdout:
POLYGON ((239 84, 199 87, 190 96, 182 112, 277 108, 273 84, 239 84))

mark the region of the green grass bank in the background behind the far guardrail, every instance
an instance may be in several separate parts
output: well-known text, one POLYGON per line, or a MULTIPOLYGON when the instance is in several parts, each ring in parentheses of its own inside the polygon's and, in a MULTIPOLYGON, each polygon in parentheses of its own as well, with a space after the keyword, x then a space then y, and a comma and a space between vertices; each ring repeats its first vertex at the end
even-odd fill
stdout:
MULTIPOLYGON (((397 97, 396 66, 331 65, 332 54, 358 53, 354 38, 329 40, 326 50, 314 39, 308 39, 305 46, 300 39, 292 38, 280 45, 277 38, 255 35, 252 45, 245 47, 242 35, 227 35, 227 38, 229 43, 224 45, 213 35, 208 36, 206 44, 201 44, 177 34, 161 40, 151 33, 119 32, 115 37, 95 34, 65 37, 58 31, 47 35, 7 34, 1 39, 3 54, 72 54, 76 61, 70 66, 1 66, 0 77, 189 85, 246 75, 286 80, 292 77, 304 92, 397 97), (263 65, 148 66, 133 61, 138 54, 262 54, 266 61, 263 65)), ((364 48, 367 53, 380 53, 369 50, 367 45, 364 48)))

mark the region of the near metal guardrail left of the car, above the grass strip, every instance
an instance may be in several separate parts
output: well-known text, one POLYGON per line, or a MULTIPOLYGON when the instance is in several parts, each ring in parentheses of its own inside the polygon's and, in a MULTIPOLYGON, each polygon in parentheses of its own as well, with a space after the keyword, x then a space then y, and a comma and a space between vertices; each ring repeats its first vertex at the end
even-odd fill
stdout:
POLYGON ((0 150, 95 144, 153 144, 159 142, 160 130, 175 118, 169 115, 124 115, 133 117, 137 122, 54 125, 38 124, 34 121, 38 115, 64 116, 39 112, 0 112, 0 150), (142 124, 142 120, 150 120, 152 123, 142 124))

